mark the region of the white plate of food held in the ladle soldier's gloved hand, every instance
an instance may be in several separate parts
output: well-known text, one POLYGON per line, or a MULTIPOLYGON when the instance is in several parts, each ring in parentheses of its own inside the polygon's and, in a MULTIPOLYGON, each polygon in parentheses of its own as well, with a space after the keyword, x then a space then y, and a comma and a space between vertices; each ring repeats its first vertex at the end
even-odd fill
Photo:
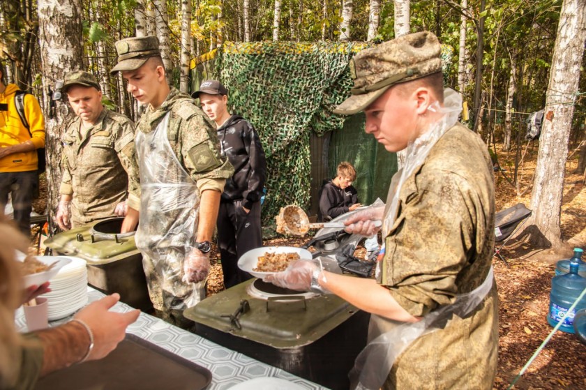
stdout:
POLYGON ((311 252, 294 246, 262 246, 248 250, 238 260, 238 267, 256 278, 285 271, 296 260, 311 260, 311 252))

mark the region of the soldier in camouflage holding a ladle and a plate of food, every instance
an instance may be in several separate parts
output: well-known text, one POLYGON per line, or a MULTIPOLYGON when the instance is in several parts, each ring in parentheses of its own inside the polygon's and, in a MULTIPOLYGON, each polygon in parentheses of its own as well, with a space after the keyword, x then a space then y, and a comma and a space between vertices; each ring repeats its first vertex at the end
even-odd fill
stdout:
POLYGON ((331 292, 371 315, 356 359, 358 389, 492 389, 497 289, 491 259, 494 184, 480 137, 458 123, 462 100, 444 91, 440 43, 426 31, 352 59, 352 96, 339 114, 366 114, 366 133, 387 151, 407 149, 385 208, 356 213, 347 232, 366 237, 382 220, 376 280, 299 261, 267 280, 331 292))

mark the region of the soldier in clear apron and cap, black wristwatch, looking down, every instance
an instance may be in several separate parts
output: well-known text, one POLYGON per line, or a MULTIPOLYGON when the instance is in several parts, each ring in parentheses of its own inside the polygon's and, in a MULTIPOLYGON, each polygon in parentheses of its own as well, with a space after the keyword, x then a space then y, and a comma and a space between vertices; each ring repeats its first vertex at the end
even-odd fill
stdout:
POLYGON ((195 100, 170 88, 154 36, 116 43, 128 92, 147 110, 135 138, 140 223, 135 236, 149 294, 163 319, 184 329, 183 310, 204 298, 220 195, 234 168, 221 156, 213 123, 195 100))

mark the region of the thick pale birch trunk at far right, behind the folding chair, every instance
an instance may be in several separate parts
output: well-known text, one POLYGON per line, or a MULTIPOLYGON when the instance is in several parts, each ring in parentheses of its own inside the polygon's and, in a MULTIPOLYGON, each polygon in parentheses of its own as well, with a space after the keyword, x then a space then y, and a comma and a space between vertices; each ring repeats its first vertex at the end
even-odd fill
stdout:
POLYGON ((532 220, 543 234, 534 243, 562 244, 560 214, 564 174, 580 65, 586 40, 586 0, 564 0, 553 49, 546 110, 531 196, 532 220))

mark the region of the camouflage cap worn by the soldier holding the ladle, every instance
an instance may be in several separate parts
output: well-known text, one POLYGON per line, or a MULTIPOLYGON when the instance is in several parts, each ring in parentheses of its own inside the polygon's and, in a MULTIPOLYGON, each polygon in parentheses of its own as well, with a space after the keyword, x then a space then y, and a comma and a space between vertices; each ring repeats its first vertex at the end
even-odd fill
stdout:
POLYGON ((333 110, 356 114, 373 103, 389 87, 442 71, 440 42, 428 31, 412 33, 363 50, 350 60, 354 79, 352 96, 333 110))

